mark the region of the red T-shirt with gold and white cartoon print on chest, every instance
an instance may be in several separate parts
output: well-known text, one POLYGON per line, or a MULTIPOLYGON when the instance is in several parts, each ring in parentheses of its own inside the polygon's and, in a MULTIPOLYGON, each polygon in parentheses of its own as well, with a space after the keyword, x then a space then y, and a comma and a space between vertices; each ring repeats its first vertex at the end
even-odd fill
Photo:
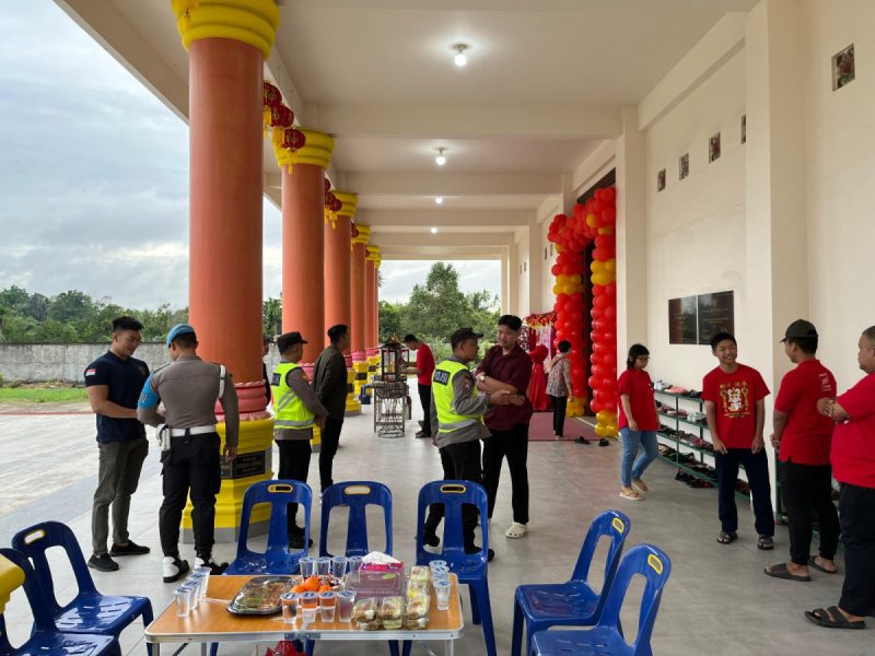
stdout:
POLYGON ((750 448, 757 433, 757 401, 767 396, 762 376, 744 364, 732 374, 716 367, 702 379, 702 400, 716 406, 718 437, 726 448, 750 448))

